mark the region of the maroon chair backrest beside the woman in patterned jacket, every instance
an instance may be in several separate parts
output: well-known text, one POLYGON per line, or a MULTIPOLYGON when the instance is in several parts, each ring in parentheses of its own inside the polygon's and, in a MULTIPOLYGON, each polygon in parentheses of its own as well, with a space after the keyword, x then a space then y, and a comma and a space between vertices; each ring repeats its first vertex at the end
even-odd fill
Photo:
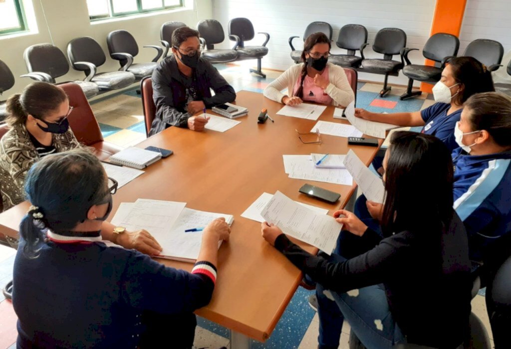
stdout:
POLYGON ((67 119, 69 127, 73 130, 76 139, 85 145, 92 145, 103 141, 98 120, 90 108, 87 97, 78 84, 59 84, 69 98, 69 106, 74 107, 67 119))

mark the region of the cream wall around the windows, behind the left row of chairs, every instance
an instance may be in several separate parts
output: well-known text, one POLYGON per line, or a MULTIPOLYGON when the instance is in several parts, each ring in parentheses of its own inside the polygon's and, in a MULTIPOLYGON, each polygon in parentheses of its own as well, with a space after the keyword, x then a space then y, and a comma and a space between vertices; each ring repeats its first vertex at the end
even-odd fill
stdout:
MULTIPOLYGON (((212 0, 185 0, 185 9, 154 12, 137 17, 124 17, 90 23, 86 0, 24 0, 24 6, 34 8, 35 22, 32 23, 30 34, 0 36, 0 59, 13 71, 16 83, 7 94, 20 92, 33 80, 19 78, 27 73, 23 61, 25 48, 37 43, 51 42, 66 52, 69 41, 80 36, 90 36, 103 47, 107 61, 98 71, 119 69, 118 61, 108 55, 106 37, 109 32, 124 29, 129 31, 140 47, 140 53, 135 62, 150 62, 156 54, 153 48, 143 48, 143 45, 159 44, 161 24, 169 20, 178 20, 195 27, 201 19, 212 18, 212 0), (197 6, 194 6, 197 5, 197 6), (47 22, 47 20, 48 22, 47 22)), ((65 54, 67 57, 67 54, 65 54)), ((80 79, 85 74, 70 68, 69 72, 57 79, 57 82, 80 79)))

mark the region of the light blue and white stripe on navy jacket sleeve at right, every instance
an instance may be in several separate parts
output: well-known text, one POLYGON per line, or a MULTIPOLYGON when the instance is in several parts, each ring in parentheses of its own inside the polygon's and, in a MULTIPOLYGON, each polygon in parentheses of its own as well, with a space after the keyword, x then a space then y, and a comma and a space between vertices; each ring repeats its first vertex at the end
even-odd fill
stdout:
POLYGON ((502 181, 511 163, 511 159, 491 160, 481 176, 472 184, 467 192, 454 202, 454 209, 461 218, 467 219, 486 200, 502 181))

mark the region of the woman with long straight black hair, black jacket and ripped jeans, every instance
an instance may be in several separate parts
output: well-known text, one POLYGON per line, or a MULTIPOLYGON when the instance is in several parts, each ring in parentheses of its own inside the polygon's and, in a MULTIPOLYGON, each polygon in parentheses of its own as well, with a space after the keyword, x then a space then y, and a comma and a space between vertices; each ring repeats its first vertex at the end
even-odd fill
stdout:
POLYGON ((383 238, 353 213, 334 213, 354 237, 342 246, 351 258, 313 256, 266 222, 263 237, 317 282, 319 348, 338 347, 344 318, 369 349, 455 348, 468 333, 472 282, 450 153, 436 137, 396 132, 383 167, 383 238))

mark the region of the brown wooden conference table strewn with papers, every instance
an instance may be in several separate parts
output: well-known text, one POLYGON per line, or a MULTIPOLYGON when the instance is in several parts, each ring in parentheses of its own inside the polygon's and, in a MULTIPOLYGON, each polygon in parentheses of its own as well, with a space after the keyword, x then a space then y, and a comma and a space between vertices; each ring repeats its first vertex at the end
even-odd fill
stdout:
MULTIPOLYGON (((240 217, 264 191, 280 190, 293 200, 329 210, 344 207, 356 184, 344 186, 288 178, 284 172, 283 154, 346 154, 347 138, 321 135, 322 144, 303 144, 295 132, 309 132, 315 120, 276 115, 281 104, 261 93, 241 91, 236 103, 247 107, 249 115, 224 133, 206 130, 194 132, 172 127, 138 144, 172 149, 174 155, 149 166, 145 173, 113 195, 113 211, 121 202, 151 198, 187 203, 187 207, 210 212, 233 214, 230 241, 219 250, 218 279, 209 305, 196 313, 231 330, 231 347, 246 347, 249 338, 267 340, 302 278, 300 271, 261 237, 260 223, 240 217), (275 122, 257 123, 262 108, 268 109, 275 122), (341 194, 337 204, 323 203, 298 189, 311 183, 341 194)), ((333 119, 329 106, 320 120, 347 123, 333 119)), ((302 136, 316 140, 315 134, 302 136)), ((351 146, 368 165, 377 147, 351 146)), ((19 204, 0 214, 0 232, 17 236, 18 225, 28 211, 29 203, 19 204)), ((317 249, 298 244, 311 253, 317 249)), ((158 260, 185 270, 191 263, 158 260)))

